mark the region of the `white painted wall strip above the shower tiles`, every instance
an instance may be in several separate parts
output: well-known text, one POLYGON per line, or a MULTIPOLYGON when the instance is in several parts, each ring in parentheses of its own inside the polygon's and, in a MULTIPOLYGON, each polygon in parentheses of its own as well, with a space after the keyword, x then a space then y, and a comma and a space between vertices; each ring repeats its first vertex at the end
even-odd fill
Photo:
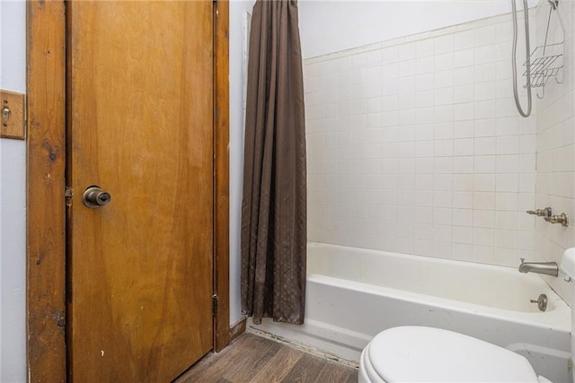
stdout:
MULTIPOLYGON (((520 1, 517 6, 522 7, 520 1)), ((537 0, 528 0, 530 6, 537 0)), ((317 1, 299 3, 304 58, 509 13, 509 0, 317 1)))

